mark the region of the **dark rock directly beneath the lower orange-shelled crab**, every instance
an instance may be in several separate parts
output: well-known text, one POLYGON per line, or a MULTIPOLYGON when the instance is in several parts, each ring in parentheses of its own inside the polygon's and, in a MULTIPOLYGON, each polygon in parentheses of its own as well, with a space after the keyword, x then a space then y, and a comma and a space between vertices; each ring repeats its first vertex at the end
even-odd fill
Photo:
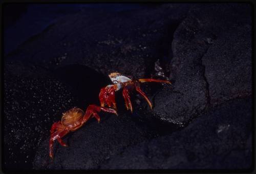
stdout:
POLYGON ((90 120, 63 140, 69 147, 55 142, 54 160, 49 157, 48 140, 38 148, 33 162, 35 169, 96 169, 102 161, 119 154, 127 146, 152 138, 146 124, 139 125, 131 114, 100 113, 101 122, 90 120))

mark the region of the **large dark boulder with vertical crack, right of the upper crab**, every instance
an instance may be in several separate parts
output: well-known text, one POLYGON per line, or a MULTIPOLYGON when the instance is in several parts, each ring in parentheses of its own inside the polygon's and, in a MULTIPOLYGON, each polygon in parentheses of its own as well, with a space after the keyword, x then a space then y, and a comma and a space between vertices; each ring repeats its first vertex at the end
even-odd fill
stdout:
POLYGON ((251 7, 191 8, 174 34, 172 88, 155 95, 161 120, 186 124, 209 106, 251 95, 251 7))

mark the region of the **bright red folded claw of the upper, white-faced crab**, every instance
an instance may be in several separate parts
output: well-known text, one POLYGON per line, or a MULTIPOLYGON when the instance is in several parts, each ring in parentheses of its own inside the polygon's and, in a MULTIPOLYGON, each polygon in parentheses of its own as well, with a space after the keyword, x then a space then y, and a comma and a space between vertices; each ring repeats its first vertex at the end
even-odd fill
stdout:
POLYGON ((110 84, 100 90, 99 93, 99 100, 100 105, 105 106, 108 105, 109 107, 117 109, 116 107, 116 100, 115 100, 115 92, 122 88, 121 84, 110 84))

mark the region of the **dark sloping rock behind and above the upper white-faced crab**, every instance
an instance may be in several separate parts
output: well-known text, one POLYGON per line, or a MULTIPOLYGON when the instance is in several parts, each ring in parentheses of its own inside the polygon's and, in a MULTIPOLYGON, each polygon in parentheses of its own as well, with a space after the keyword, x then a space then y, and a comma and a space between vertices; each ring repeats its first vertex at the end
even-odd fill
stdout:
POLYGON ((163 5, 146 10, 87 10, 67 15, 30 38, 8 59, 23 59, 47 68, 78 63, 102 73, 144 77, 154 62, 168 54, 174 30, 189 5, 163 5))

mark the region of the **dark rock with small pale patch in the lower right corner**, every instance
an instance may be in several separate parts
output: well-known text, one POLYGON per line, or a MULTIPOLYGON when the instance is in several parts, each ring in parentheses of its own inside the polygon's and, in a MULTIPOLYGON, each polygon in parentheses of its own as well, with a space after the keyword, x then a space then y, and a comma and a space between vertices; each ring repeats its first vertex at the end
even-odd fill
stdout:
POLYGON ((249 169, 251 99, 234 99, 181 131, 129 147, 100 169, 249 169))

